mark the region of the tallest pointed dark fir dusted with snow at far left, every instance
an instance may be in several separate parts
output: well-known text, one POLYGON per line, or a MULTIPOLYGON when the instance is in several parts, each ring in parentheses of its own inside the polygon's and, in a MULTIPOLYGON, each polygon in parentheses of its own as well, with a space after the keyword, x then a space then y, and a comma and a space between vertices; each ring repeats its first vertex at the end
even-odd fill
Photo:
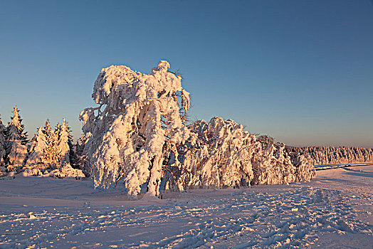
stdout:
POLYGON ((27 157, 27 133, 24 132, 23 124, 21 123, 19 110, 17 106, 14 107, 13 117, 6 127, 7 142, 6 142, 6 161, 9 170, 16 169, 18 166, 23 165, 23 161, 27 157))

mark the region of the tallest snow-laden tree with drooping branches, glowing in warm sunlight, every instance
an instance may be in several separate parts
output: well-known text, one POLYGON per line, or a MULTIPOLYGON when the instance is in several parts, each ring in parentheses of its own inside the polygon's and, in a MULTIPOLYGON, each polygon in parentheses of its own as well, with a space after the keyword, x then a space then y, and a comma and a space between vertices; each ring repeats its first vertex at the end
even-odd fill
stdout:
POLYGON ((161 60, 149 75, 125 65, 101 70, 92 95, 99 106, 80 112, 95 186, 123 179, 129 194, 139 194, 145 183, 149 194, 159 194, 165 144, 177 154, 176 144, 190 133, 181 117, 189 92, 168 68, 161 60))

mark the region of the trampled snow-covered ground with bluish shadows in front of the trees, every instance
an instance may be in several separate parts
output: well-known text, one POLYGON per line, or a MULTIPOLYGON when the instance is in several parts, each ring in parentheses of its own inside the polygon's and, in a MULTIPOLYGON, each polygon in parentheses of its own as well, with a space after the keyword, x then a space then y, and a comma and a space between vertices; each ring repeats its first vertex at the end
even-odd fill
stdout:
POLYGON ((373 248, 373 166, 140 198, 16 175, 0 181, 0 248, 373 248))

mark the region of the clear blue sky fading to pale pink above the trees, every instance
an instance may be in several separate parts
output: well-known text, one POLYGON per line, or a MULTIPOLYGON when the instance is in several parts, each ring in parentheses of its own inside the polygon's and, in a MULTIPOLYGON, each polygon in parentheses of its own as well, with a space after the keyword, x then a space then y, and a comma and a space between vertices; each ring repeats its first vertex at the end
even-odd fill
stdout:
POLYGON ((32 137, 95 106, 101 68, 180 69, 191 118, 373 147, 372 1, 0 1, 0 114, 32 137))

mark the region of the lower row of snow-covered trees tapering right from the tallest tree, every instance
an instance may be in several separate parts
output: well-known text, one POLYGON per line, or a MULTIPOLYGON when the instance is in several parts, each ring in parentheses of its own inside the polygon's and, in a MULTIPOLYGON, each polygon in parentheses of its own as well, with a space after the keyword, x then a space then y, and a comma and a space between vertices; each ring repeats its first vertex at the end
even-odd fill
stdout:
POLYGON ((195 122, 191 138, 178 151, 181 164, 174 164, 171 157, 170 168, 165 166, 165 189, 288 184, 314 176, 309 159, 294 165, 285 144, 268 136, 257 138, 241 124, 221 117, 195 122))

